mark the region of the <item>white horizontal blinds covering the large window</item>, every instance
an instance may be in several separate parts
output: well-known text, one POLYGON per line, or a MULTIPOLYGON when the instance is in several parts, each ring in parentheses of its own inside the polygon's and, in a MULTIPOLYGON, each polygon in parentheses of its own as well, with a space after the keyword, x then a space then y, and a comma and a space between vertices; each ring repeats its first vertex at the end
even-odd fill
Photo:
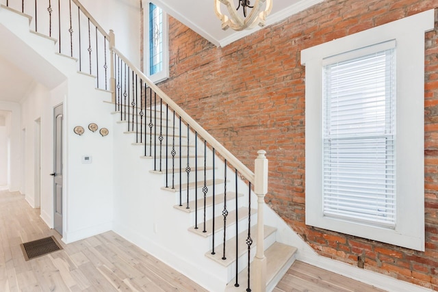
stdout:
POLYGON ((396 224, 395 74, 395 49, 324 66, 325 216, 396 224))

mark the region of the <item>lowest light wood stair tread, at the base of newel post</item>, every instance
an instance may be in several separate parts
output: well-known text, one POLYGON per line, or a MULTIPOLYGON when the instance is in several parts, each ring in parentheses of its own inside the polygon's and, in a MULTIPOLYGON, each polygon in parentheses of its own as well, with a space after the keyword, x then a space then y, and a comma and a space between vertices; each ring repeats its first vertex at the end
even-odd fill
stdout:
MULTIPOLYGON (((272 287, 272 280, 283 277, 284 273, 295 261, 296 248, 284 243, 275 242, 265 251, 266 257, 266 286, 272 287), (280 274, 281 273, 281 274, 280 274)), ((254 291, 253 283, 255 280, 255 269, 250 265, 250 289, 254 291)), ((235 278, 229 282, 225 291, 246 291, 248 288, 248 268, 239 273, 239 287, 235 287, 235 278)))

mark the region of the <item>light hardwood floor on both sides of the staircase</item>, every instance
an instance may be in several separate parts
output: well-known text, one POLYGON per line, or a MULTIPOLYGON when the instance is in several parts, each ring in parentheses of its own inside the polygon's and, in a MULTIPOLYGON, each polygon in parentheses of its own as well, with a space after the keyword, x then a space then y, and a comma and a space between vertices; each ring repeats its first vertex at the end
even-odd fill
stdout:
MULTIPOLYGON (((113 232, 65 245, 23 195, 0 190, 0 291, 206 291, 113 232), (64 250, 25 261, 20 244, 55 236, 64 250)), ((296 262, 274 292, 381 292, 296 262)))

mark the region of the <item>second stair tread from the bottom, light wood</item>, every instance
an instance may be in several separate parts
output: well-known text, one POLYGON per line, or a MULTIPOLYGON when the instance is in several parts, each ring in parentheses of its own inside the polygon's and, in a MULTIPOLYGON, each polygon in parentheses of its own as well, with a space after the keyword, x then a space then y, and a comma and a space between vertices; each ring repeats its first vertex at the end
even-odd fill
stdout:
MULTIPOLYGON (((275 227, 272 226, 263 226, 263 235, 264 239, 268 238, 272 233, 276 231, 275 227)), ((257 246, 257 225, 251 227, 250 229, 250 235, 251 239, 253 239, 253 244, 251 244, 251 249, 254 249, 257 246)), ((248 230, 245 230, 244 232, 239 234, 238 237, 239 246, 238 246, 238 252, 239 257, 246 254, 248 252, 248 245, 246 244, 246 239, 248 239, 248 230)), ((224 250, 224 244, 220 244, 214 248, 215 254, 211 254, 212 250, 209 250, 205 256, 207 258, 211 258, 212 260, 216 261, 216 263, 220 263, 220 265, 223 265, 224 267, 228 267, 232 263, 235 263, 235 237, 232 239, 227 240, 225 243, 225 256, 227 259, 223 260, 223 250, 224 250)))

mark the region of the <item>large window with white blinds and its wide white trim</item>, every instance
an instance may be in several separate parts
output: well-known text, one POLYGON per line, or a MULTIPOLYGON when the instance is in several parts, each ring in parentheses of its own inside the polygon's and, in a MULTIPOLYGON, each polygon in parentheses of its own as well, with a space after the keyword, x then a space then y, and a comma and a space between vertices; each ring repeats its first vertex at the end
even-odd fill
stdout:
POLYGON ((424 251, 424 32, 435 10, 303 49, 305 223, 424 251))

